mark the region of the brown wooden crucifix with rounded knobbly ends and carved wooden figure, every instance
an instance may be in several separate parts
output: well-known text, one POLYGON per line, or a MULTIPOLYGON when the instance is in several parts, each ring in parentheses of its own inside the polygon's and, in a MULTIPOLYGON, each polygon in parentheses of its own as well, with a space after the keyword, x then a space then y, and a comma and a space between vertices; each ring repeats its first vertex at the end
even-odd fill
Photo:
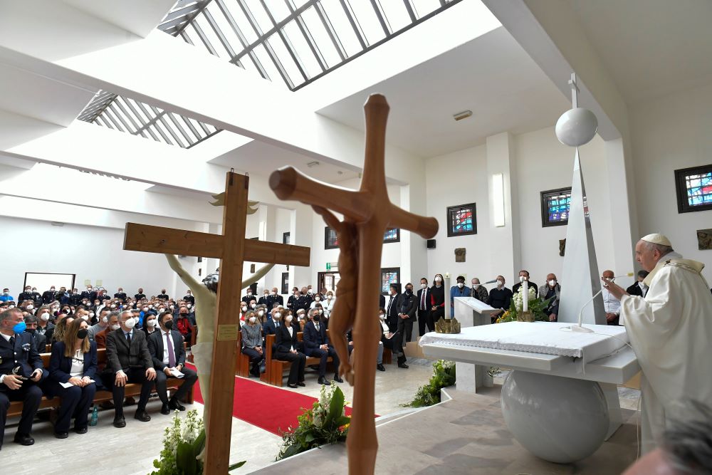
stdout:
POLYGON ((389 106, 384 96, 374 94, 367 100, 364 110, 366 150, 358 191, 318 182, 293 167, 278 169, 269 180, 270 187, 280 199, 296 199, 310 204, 328 224, 336 226, 341 250, 339 266, 342 267, 342 260, 346 261, 351 265, 352 273, 357 274, 346 276, 342 273, 329 322, 331 339, 342 362, 339 372, 354 386, 353 413, 346 441, 352 475, 372 474, 378 449, 373 416, 376 354, 381 335, 376 310, 383 234, 389 227, 401 228, 427 239, 438 231, 436 219, 409 213, 390 202, 384 164, 389 106), (343 222, 338 223, 329 209, 343 214, 343 222), (339 311, 336 306, 342 298, 350 301, 343 306, 343 311, 339 311), (348 364, 344 335, 351 328, 353 368, 348 364))

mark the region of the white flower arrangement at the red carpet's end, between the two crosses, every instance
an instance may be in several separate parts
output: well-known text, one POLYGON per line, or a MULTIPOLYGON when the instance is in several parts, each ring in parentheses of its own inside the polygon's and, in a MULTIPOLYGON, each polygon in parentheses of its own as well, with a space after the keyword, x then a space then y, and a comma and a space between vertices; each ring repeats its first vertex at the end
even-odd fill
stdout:
POLYGON ((331 382, 329 392, 322 386, 319 400, 297 417, 298 425, 282 434, 282 447, 276 460, 325 444, 345 442, 351 417, 345 414, 344 393, 331 382))

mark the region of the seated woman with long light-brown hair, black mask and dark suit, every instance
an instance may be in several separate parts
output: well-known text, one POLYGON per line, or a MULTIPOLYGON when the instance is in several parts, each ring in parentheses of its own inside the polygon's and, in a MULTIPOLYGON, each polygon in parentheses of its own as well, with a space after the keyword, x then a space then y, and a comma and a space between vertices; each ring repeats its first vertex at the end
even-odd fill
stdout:
POLYGON ((75 319, 67 328, 62 341, 52 346, 49 365, 50 384, 47 392, 61 397, 54 435, 58 439, 69 436, 69 426, 74 418, 74 432, 86 434, 89 407, 97 390, 96 343, 88 338, 88 324, 75 319), (66 385, 69 385, 66 387, 66 385))

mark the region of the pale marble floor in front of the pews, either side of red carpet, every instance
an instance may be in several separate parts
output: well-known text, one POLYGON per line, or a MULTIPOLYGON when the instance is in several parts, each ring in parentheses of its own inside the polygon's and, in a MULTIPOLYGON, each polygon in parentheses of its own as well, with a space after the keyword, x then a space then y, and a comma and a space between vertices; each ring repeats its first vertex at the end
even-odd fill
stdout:
MULTIPOLYGON (((402 411, 400 404, 412 400, 419 386, 424 385, 432 373, 428 360, 408 361, 407 370, 396 365, 385 365, 385 372, 376 375, 377 414, 392 414, 402 411)), ((252 378, 252 380, 256 380, 252 378)), ((306 387, 292 390, 312 397, 319 397, 320 387, 315 372, 308 370, 306 387)), ((341 384, 346 400, 351 401, 353 390, 347 384, 341 384)), ((253 401, 256 410, 268 407, 268 401, 253 401)), ((55 439, 53 428, 48 422, 37 421, 33 425, 35 444, 22 447, 12 442, 18 418, 10 418, 6 427, 4 444, 0 451, 0 474, 7 475, 54 475, 54 474, 90 474, 102 475, 149 474, 152 461, 157 458, 163 444, 163 431, 169 424, 170 416, 160 414, 160 402, 153 397, 147 411, 150 422, 133 419, 135 406, 125 407, 126 427, 116 429, 112 426, 113 410, 99 413, 99 423, 90 427, 87 434, 78 435, 70 432, 68 439, 55 439)), ((193 404, 202 412, 201 404, 193 404)), ((183 413, 184 414, 184 413, 183 413)), ((239 419, 232 421, 232 444, 230 461, 247 460, 247 463, 234 474, 248 474, 251 471, 268 466, 274 461, 281 446, 281 437, 239 419)))

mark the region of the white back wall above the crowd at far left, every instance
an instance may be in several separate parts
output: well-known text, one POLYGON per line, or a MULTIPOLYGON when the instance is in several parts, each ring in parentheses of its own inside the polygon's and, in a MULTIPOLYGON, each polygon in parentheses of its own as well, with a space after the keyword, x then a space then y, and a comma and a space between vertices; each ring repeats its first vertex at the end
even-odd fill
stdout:
MULTIPOLYGON (((17 298, 23 290, 25 272, 75 273, 75 286, 84 287, 84 280, 93 285, 97 280, 113 295, 121 286, 133 295, 139 287, 147 296, 166 288, 176 295, 174 273, 162 254, 123 251, 123 229, 65 224, 52 226, 48 221, 0 216, 0 246, 4 249, 0 266, 0 286, 9 287, 17 298)), ((185 268, 194 265, 195 258, 185 258, 185 268)), ((180 286, 179 296, 184 296, 180 286)), ((46 288, 38 288, 40 293, 46 288)))

